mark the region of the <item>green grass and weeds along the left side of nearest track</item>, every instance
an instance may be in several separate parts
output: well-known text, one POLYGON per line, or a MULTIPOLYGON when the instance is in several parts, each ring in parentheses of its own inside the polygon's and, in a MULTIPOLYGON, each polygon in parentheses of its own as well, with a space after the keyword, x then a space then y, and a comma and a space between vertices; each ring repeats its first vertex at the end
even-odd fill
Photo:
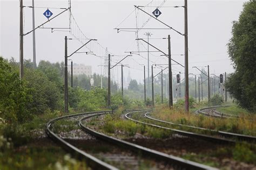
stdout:
POLYGON ((63 115, 59 111, 45 112, 22 124, 0 122, 0 169, 89 169, 84 161, 71 158, 50 140, 34 144, 35 139, 46 140, 38 139, 46 123, 63 115))

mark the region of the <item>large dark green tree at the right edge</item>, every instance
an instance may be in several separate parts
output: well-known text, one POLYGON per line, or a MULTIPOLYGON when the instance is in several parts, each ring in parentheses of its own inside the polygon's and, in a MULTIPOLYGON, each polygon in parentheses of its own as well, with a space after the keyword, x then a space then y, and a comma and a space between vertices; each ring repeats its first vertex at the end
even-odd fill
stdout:
POLYGON ((244 4, 238 22, 233 22, 232 38, 227 44, 235 72, 225 84, 242 108, 256 111, 256 2, 244 4))

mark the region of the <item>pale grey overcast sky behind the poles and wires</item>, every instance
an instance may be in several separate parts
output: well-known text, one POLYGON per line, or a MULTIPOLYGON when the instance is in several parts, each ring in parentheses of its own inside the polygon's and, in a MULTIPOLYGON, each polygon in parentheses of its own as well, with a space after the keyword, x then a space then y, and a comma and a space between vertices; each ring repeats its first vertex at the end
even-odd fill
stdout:
MULTIPOLYGON (((1 27, 0 27, 0 55, 10 59, 14 57, 19 61, 19 1, 3 1, 1 5, 1 27)), ((231 38, 232 22, 238 20, 242 10, 242 4, 245 1, 188 1, 188 60, 190 73, 198 74, 199 72, 192 68, 198 66, 210 65, 210 72, 215 74, 232 73, 233 67, 228 58, 226 44, 231 38)), ((24 6, 31 6, 31 1, 24 1, 24 6)), ((68 0, 59 1, 37 1, 35 0, 35 18, 36 26, 44 23, 47 18, 43 15, 46 8, 49 8, 54 17, 63 9, 51 8, 68 8, 68 0)), ((172 58, 184 65, 184 37, 173 30, 159 30, 167 27, 159 23, 156 19, 146 15, 143 11, 134 10, 134 5, 147 5, 142 8, 152 14, 156 6, 160 6, 161 15, 159 20, 172 26, 174 29, 184 33, 184 8, 172 8, 170 6, 182 6, 183 1, 71 1, 71 33, 77 38, 84 38, 80 30, 87 38, 97 39, 97 42, 89 42, 87 48, 80 52, 93 51, 98 56, 86 55, 85 53, 74 54, 70 59, 75 63, 91 65, 92 72, 100 74, 99 65, 104 65, 104 55, 107 47, 111 53, 114 65, 128 53, 125 51, 147 51, 147 44, 143 41, 136 41, 134 30, 122 30, 117 33, 114 28, 130 28, 139 30, 138 37, 146 38, 145 32, 151 32, 149 40, 151 44, 158 47, 165 53, 167 51, 168 34, 171 36, 172 58), (77 25, 75 24, 75 21, 77 25), (146 29, 152 30, 146 30, 146 29), (156 29, 157 28, 157 29, 156 29), (138 45, 137 45, 138 44, 138 45), (181 54, 181 55, 180 55, 181 54)), ((69 12, 64 12, 59 17, 52 19, 44 27, 62 27, 68 28, 70 23, 69 12)), ((24 8, 24 33, 32 29, 32 9, 24 8)), ((36 30, 36 57, 37 64, 40 60, 50 62, 64 61, 64 36, 73 38, 69 29, 37 29, 36 30), (64 32, 66 31, 66 32, 64 32)), ((84 42, 87 40, 83 40, 84 42)), ((68 40, 68 53, 71 54, 82 44, 74 39, 68 40)), ((150 51, 155 49, 150 48, 150 51)), ((141 56, 133 54, 122 63, 127 64, 130 68, 124 68, 124 74, 130 72, 132 79, 143 81, 143 66, 147 66, 147 53, 140 53, 141 56)), ((152 64, 165 64, 167 58, 160 56, 159 52, 150 53, 150 67, 152 64)), ((24 58, 32 59, 32 33, 24 37, 24 58)), ((174 62, 173 62, 174 63, 174 62)), ((165 67, 165 66, 164 66, 165 67)), ((184 73, 184 68, 173 65, 173 74, 178 72, 184 73)), ((157 74, 159 68, 155 69, 157 74)), ((104 68, 102 67, 104 74, 104 68)), ((151 73, 151 71, 150 71, 151 73)), ((120 79, 120 66, 113 69, 114 79, 120 79), (119 74, 119 75, 118 75, 119 74)))

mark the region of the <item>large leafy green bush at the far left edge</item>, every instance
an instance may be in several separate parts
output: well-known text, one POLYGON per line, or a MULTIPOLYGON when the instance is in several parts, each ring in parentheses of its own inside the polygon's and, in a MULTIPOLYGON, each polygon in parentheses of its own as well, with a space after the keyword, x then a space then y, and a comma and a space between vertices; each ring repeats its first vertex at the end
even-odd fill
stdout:
POLYGON ((26 121, 31 116, 31 100, 30 89, 19 79, 17 70, 0 57, 0 117, 9 123, 26 121))

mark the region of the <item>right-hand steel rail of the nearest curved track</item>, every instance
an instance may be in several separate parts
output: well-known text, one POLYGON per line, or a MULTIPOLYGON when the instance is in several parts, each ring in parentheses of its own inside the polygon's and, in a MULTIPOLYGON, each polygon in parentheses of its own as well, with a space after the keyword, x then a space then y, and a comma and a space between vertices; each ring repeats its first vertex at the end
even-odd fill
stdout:
MULTIPOLYGON (((144 111, 144 110, 139 110, 137 112, 140 112, 140 111, 144 111)), ((169 154, 166 154, 166 153, 163 153, 163 152, 159 152, 159 151, 156 151, 156 150, 151 150, 150 148, 146 148, 146 147, 143 147, 143 146, 140 146, 140 145, 137 145, 137 144, 133 144, 133 143, 130 143, 128 141, 124 141, 124 140, 117 139, 117 138, 114 138, 114 137, 111 137, 111 136, 107 136, 106 134, 99 133, 95 130, 92 130, 92 129, 86 127, 82 123, 85 119, 95 117, 95 116, 104 115, 104 114, 105 113, 93 114, 93 115, 89 115, 89 116, 86 116, 86 117, 80 119, 80 121, 79 121, 80 128, 82 130, 86 131, 87 133, 90 133, 92 136, 95 136, 99 139, 109 141, 110 143, 113 143, 113 144, 116 144, 116 145, 119 145, 119 146, 123 146, 123 147, 125 147, 127 149, 131 149, 135 152, 141 152, 146 156, 150 155, 151 157, 154 157, 156 159, 166 160, 168 162, 171 162, 171 164, 174 165, 175 168, 179 167, 181 169, 216 169, 216 168, 213 168, 213 167, 210 167, 210 166, 199 164, 197 162, 185 160, 185 159, 179 158, 179 157, 174 157, 173 155, 169 155, 169 154)))

